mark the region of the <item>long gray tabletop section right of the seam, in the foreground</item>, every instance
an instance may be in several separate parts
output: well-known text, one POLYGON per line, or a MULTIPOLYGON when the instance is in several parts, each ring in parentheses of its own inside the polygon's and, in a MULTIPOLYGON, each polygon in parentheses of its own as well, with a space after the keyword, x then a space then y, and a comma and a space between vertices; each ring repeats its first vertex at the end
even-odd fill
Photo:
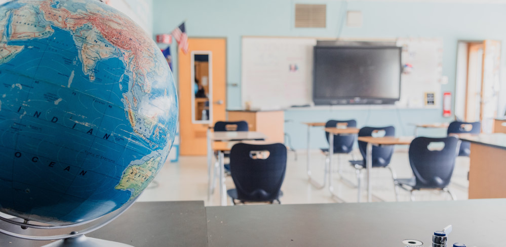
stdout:
POLYGON ((208 207, 209 246, 432 246, 452 224, 448 246, 504 246, 506 199, 452 202, 208 207))

